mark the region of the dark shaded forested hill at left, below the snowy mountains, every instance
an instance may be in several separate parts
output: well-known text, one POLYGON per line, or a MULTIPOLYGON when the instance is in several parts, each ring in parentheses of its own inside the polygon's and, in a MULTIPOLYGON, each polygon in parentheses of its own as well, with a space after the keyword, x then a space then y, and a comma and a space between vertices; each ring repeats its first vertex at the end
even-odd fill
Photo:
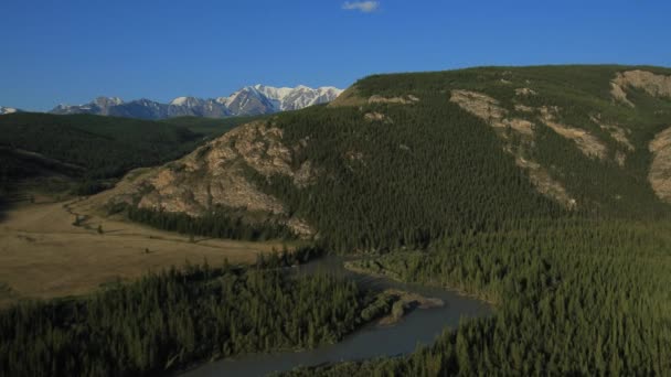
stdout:
POLYGON ((81 181, 85 191, 96 190, 100 180, 178 159, 206 138, 249 120, 183 117, 157 122, 92 115, 3 115, 0 191, 15 188, 26 179, 54 175, 81 181))

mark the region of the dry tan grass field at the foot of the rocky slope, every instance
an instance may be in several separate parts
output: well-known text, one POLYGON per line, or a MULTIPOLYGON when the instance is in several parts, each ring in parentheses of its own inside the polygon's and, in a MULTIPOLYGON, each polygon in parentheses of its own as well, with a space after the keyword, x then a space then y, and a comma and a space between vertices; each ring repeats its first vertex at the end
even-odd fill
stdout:
MULTIPOLYGON (((41 201, 39 201, 41 202, 41 201)), ((24 204, 0 222, 0 305, 84 294, 185 261, 253 262, 280 243, 199 238, 95 214, 85 201, 24 204), (75 215, 85 219, 73 225, 75 215), (102 227, 102 233, 98 231, 102 227)))

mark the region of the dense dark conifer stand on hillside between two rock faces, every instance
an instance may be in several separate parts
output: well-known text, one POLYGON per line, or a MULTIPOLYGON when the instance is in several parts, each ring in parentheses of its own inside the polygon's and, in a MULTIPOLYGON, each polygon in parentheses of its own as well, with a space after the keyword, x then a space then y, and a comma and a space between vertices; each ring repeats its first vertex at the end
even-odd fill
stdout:
POLYGON ((461 227, 563 213, 536 193, 489 126, 444 96, 382 107, 393 123, 366 122, 356 108, 276 120, 289 144, 309 139, 296 164, 309 160, 328 173, 305 188, 280 177, 256 182, 313 224, 329 248, 426 246, 461 227))

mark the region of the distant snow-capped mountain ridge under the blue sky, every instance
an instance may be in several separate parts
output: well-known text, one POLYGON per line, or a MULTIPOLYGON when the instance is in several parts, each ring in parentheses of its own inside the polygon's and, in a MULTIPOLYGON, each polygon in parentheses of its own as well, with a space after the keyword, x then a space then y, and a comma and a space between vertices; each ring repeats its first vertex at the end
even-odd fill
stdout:
POLYGON ((51 114, 93 114, 140 119, 166 119, 193 116, 223 118, 232 116, 256 116, 278 111, 298 110, 308 106, 326 104, 336 99, 342 89, 336 87, 295 88, 265 85, 246 86, 228 97, 198 98, 178 97, 169 104, 150 99, 125 103, 118 97, 98 97, 85 105, 58 105, 51 114))

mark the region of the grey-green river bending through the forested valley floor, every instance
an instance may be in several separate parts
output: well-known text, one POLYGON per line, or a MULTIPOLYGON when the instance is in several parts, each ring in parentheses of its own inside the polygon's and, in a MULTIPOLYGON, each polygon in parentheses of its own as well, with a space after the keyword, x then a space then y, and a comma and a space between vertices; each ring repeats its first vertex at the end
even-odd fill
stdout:
POLYGON ((477 299, 459 295, 439 288, 407 284, 384 278, 373 278, 344 270, 342 259, 328 257, 299 268, 299 273, 327 269, 354 279, 364 287, 396 288, 424 297, 439 298, 441 308, 415 309, 400 323, 388 326, 369 324, 337 344, 301 352, 253 354, 204 364, 185 371, 184 377, 264 376, 298 366, 359 360, 377 356, 396 356, 413 352, 418 344, 432 344, 444 328, 455 327, 462 316, 484 316, 491 308, 477 299))

